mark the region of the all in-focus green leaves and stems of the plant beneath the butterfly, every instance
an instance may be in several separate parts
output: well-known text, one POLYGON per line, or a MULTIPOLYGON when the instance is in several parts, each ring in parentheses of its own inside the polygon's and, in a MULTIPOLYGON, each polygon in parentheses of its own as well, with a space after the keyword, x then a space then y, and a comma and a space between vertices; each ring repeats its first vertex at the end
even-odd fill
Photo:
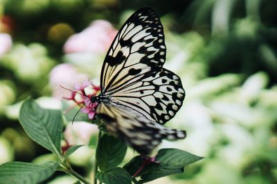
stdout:
MULTIPOLYGON (((31 139, 57 156, 57 161, 39 165, 21 162, 3 164, 0 166, 1 183, 39 183, 51 176, 55 170, 71 174, 83 183, 91 183, 75 173, 67 163, 68 156, 82 145, 69 147, 65 154, 61 152, 62 119, 60 111, 40 108, 35 101, 27 99, 21 106, 19 122, 31 139), (57 167, 58 165, 59 167, 57 167)), ((133 167, 139 167, 139 165, 131 161, 128 164, 129 172, 121 167, 116 167, 123 161, 126 151, 127 145, 120 139, 107 134, 100 135, 94 163, 95 177, 100 182, 107 184, 131 183, 133 167)), ((162 176, 184 172, 186 165, 202 159, 193 154, 188 154, 188 152, 174 149, 160 150, 157 158, 159 158, 160 166, 156 169, 145 168, 146 172, 150 171, 143 174, 143 183, 162 176), (168 168, 171 169, 168 171, 168 168)), ((144 170, 143 172, 145 172, 144 170)))

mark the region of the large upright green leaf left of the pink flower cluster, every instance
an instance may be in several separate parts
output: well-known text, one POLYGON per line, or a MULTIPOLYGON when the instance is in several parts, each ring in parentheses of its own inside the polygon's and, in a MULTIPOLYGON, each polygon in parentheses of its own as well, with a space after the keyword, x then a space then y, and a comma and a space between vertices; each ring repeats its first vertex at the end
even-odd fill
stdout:
POLYGON ((62 114, 59 110, 40 108, 35 101, 27 99, 21 106, 19 122, 33 141, 60 155, 62 114))

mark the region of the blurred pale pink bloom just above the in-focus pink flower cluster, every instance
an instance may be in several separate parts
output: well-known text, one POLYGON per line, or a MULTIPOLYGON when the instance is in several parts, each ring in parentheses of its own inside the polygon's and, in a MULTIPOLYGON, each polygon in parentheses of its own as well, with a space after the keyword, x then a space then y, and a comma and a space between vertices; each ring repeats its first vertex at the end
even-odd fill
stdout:
POLYGON ((50 73, 50 85, 53 89, 53 96, 62 99, 66 90, 60 86, 72 89, 75 84, 82 83, 88 77, 85 74, 80 74, 73 65, 60 64, 56 65, 50 73))

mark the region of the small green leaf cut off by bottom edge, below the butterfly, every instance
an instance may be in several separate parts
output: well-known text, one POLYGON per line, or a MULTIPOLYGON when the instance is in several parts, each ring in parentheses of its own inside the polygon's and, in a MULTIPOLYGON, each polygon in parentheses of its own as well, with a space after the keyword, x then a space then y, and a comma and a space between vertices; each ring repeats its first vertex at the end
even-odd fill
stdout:
POLYGON ((105 184, 131 184, 131 176, 129 173, 120 167, 115 167, 108 172, 96 173, 96 178, 105 184))

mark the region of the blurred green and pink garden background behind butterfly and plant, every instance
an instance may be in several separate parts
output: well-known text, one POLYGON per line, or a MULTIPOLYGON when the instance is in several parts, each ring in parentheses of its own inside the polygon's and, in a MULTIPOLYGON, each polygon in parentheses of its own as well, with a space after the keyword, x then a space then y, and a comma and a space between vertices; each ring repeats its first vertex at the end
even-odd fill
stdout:
MULTIPOLYGON (((99 84, 116 31, 145 6, 161 17, 165 68, 186 90, 167 125, 188 137, 160 148, 206 157, 152 183, 277 183, 276 0, 0 0, 0 164, 51 157, 19 125, 21 101, 60 108, 69 92, 58 85, 99 84)), ((90 145, 71 156, 80 174, 91 176, 96 132, 84 122, 66 125, 69 143, 90 145)), ((74 181, 57 172, 46 183, 74 181)))

